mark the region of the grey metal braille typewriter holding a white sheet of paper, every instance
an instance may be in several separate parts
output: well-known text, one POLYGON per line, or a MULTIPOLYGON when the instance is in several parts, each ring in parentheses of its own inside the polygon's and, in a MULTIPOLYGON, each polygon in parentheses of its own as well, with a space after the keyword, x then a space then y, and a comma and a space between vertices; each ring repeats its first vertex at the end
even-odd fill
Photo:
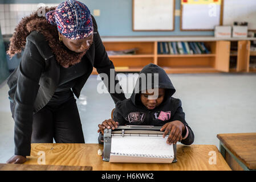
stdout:
POLYGON ((176 144, 167 144, 161 126, 118 126, 105 129, 103 160, 112 163, 175 163, 176 144))

